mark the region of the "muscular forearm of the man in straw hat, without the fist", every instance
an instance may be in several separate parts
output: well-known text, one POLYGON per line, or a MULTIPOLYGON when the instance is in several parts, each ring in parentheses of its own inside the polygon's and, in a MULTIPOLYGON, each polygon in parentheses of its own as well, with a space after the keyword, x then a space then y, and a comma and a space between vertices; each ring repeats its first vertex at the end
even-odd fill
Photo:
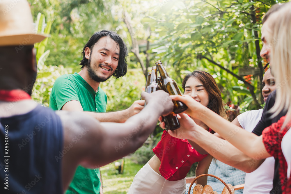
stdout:
POLYGON ((161 111, 155 110, 155 108, 156 106, 147 104, 143 111, 132 116, 123 124, 100 123, 104 129, 107 129, 104 131, 104 136, 108 137, 104 138, 102 143, 103 152, 100 150, 102 155, 100 158, 110 159, 102 165, 124 157, 143 145, 148 135, 155 129, 161 114, 161 111))

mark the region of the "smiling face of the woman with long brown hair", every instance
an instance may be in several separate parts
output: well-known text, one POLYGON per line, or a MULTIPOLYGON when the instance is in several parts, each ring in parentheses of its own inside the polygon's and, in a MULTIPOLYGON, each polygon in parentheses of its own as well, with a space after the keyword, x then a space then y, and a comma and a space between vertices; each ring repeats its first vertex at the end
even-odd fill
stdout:
POLYGON ((193 76, 189 77, 186 81, 184 95, 191 96, 194 100, 200 102, 204 106, 207 106, 209 103, 208 93, 205 90, 203 83, 193 76))

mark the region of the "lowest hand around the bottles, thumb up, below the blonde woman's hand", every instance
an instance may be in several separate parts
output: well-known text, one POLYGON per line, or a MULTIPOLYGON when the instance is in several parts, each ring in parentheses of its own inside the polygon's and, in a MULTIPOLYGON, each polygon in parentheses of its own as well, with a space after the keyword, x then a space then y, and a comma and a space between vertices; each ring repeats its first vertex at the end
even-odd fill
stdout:
POLYGON ((175 138, 191 139, 193 136, 193 131, 199 126, 187 114, 180 113, 177 117, 181 127, 173 131, 168 130, 168 133, 175 138))

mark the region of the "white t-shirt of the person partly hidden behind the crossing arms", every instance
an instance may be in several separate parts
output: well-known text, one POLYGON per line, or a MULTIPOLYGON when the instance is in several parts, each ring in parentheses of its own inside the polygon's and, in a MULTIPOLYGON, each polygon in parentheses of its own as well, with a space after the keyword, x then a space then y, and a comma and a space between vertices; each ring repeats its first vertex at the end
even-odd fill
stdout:
MULTIPOLYGON (((247 111, 237 116, 243 129, 252 132, 262 117, 263 110, 247 111)), ((251 164, 250 164, 251 165, 251 164)), ((244 194, 269 194, 273 188, 274 157, 269 157, 251 173, 246 173, 244 194)))

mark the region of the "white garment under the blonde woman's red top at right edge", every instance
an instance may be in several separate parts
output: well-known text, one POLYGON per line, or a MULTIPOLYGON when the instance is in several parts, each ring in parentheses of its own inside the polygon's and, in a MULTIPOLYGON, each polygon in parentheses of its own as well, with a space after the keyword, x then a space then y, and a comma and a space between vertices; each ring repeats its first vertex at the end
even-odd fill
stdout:
POLYGON ((284 157, 286 159, 288 168, 287 168, 287 177, 288 179, 290 178, 290 173, 291 173, 291 128, 287 131, 287 133, 284 135, 282 142, 281 142, 281 149, 284 154, 284 157))

